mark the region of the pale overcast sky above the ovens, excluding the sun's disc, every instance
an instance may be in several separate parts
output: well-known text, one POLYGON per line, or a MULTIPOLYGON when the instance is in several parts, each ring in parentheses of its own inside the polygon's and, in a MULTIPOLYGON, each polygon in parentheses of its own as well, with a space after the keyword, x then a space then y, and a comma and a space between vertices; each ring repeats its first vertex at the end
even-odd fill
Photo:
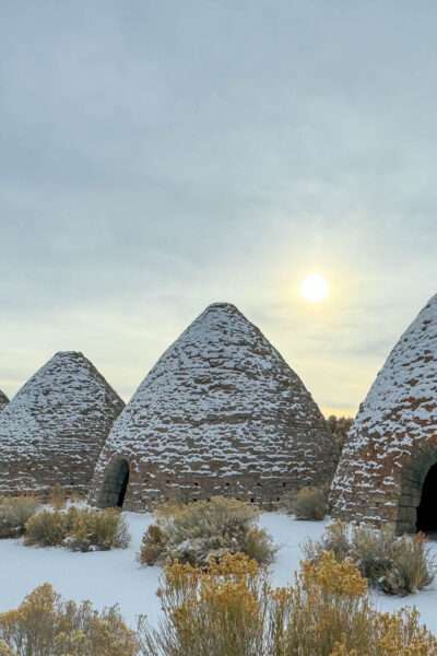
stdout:
POLYGON ((2 0, 0 388, 73 349, 128 399, 229 301, 353 414, 437 291, 436 31, 434 0, 2 0))

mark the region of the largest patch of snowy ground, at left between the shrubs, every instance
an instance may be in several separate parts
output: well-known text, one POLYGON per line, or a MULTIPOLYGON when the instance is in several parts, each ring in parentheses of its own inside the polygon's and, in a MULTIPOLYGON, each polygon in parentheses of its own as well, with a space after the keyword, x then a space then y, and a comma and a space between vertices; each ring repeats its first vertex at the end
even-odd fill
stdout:
POLYGON ((22 540, 0 541, 0 611, 15 608, 35 587, 50 583, 66 599, 90 599, 103 609, 118 604, 134 625, 139 614, 156 620, 155 596, 160 567, 143 567, 137 560, 141 538, 152 515, 126 513, 132 536, 128 549, 71 552, 51 547, 24 547, 22 540))

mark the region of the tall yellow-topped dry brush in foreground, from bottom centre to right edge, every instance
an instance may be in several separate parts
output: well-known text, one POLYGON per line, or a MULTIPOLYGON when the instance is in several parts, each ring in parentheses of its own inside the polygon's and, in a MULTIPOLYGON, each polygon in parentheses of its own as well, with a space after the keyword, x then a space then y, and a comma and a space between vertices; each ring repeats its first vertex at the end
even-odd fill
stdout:
POLYGON ((226 555, 209 570, 176 563, 160 590, 164 617, 142 620, 147 656, 432 656, 437 640, 416 611, 379 613, 351 561, 324 552, 305 562, 294 585, 271 588, 245 555, 226 555))

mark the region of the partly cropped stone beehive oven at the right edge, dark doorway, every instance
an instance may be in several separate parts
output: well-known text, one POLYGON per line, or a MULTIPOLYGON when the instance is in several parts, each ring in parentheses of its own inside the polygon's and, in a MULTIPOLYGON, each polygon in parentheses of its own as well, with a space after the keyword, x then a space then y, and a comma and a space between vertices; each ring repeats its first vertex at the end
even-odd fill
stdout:
POLYGON ((401 337, 359 409, 333 481, 333 514, 390 523, 399 532, 435 529, 436 462, 437 295, 401 337))

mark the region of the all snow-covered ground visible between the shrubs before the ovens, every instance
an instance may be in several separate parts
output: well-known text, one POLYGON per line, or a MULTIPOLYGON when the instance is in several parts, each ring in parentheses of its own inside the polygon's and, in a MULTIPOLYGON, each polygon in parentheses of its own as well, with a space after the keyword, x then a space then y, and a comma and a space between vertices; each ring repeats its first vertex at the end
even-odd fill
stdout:
MULTIPOLYGON (((24 547, 21 540, 0 540, 0 611, 15 608, 36 586, 49 582, 64 598, 90 599, 102 609, 118 604, 125 619, 134 625, 139 614, 156 622, 156 598, 161 569, 142 567, 138 552, 142 535, 152 515, 126 513, 132 541, 129 549, 96 553, 72 553, 66 549, 24 547)), ((296 522, 281 513, 265 513, 260 524, 280 547, 272 566, 272 582, 284 585, 293 581, 302 559, 300 546, 323 532, 322 522, 296 522)), ((437 555, 437 542, 433 551, 437 555)), ((410 597, 375 595, 380 610, 415 606, 422 621, 437 633, 437 582, 425 591, 410 597)))

